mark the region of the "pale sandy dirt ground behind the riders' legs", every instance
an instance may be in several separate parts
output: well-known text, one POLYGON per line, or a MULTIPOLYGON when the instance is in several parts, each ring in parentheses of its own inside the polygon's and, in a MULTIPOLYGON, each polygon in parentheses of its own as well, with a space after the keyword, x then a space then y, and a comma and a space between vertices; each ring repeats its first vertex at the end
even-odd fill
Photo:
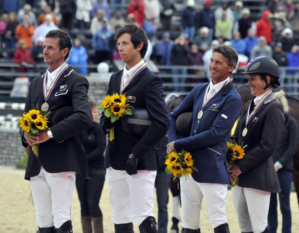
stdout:
MULTIPOLYGON (((0 166, 0 233, 36 233, 34 207, 30 196, 30 182, 24 180, 24 170, 13 167, 0 166)), ((295 192, 291 194, 292 233, 299 233, 299 208, 295 192)), ((157 217, 156 202, 154 203, 154 215, 157 217)), ((104 232, 114 233, 112 223, 112 209, 109 203, 109 191, 107 182, 102 193, 100 207, 103 212, 104 232)), ((168 203, 168 230, 171 227, 171 194, 169 192, 168 203)), ((80 205, 76 190, 73 194, 72 202, 72 223, 74 233, 82 233, 80 222, 80 205)), ((236 213, 232 203, 231 192, 227 196, 227 217, 231 233, 240 233, 237 224, 236 213)), ((279 214, 279 228, 281 232, 281 215, 279 214)), ((213 233, 205 209, 201 213, 201 232, 213 233)), ((135 227, 135 232, 139 232, 135 227)))

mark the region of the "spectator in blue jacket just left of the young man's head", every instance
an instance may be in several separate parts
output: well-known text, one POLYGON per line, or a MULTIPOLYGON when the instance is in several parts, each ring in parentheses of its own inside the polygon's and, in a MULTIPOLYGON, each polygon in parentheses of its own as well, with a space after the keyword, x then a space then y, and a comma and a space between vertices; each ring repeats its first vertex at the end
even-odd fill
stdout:
POLYGON ((111 58, 113 48, 109 46, 109 40, 113 34, 113 30, 107 27, 106 21, 103 21, 103 27, 92 36, 92 48, 95 50, 94 62, 96 64, 111 58))

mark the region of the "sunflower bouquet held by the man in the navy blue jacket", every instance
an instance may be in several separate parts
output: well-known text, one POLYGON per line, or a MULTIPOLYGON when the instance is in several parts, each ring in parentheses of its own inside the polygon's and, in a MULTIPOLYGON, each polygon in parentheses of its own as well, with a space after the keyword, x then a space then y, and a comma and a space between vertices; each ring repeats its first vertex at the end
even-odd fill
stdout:
MULTIPOLYGON (((193 171, 198 171, 193 167, 193 159, 189 152, 182 150, 181 152, 171 152, 165 156, 165 172, 173 176, 176 181, 182 176, 188 176, 193 171)), ((187 178, 186 178, 187 179, 187 178)))

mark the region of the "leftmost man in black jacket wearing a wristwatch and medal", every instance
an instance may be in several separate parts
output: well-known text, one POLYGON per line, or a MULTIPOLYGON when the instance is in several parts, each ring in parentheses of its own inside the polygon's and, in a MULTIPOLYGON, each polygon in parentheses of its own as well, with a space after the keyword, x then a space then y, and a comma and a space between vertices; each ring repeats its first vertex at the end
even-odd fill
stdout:
POLYGON ((92 126, 89 84, 65 63, 71 47, 68 33, 51 30, 46 34, 43 55, 49 68, 32 80, 25 112, 32 106, 50 112, 50 130, 30 137, 20 132, 24 147, 39 146, 37 157, 29 150, 25 172, 25 179, 31 182, 39 233, 72 233, 70 207, 75 173, 87 176, 82 132, 92 126))

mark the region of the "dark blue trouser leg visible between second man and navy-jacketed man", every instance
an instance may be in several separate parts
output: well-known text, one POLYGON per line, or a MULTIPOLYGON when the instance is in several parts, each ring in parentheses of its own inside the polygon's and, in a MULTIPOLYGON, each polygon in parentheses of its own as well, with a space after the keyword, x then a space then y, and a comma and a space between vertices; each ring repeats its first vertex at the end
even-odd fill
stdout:
POLYGON ((155 188, 158 204, 158 233, 167 233, 168 224, 168 189, 170 186, 170 175, 165 172, 164 169, 157 171, 155 179, 155 188))

